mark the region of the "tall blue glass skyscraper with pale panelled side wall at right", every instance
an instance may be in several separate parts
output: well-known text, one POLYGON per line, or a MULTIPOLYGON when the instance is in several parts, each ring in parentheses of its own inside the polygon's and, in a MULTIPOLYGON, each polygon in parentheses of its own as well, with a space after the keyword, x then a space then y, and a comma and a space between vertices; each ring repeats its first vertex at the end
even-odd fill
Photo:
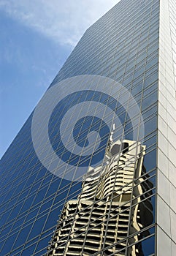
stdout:
POLYGON ((1 159, 0 255, 176 255, 175 15, 121 0, 85 31, 1 159))

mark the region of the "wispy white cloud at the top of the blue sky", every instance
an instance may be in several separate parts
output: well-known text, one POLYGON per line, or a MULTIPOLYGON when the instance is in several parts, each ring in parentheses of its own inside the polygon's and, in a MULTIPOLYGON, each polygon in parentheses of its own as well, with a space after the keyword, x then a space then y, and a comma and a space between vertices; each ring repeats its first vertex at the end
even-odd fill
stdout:
POLYGON ((0 10, 61 45, 74 46, 85 29, 120 0, 1 0, 0 10))

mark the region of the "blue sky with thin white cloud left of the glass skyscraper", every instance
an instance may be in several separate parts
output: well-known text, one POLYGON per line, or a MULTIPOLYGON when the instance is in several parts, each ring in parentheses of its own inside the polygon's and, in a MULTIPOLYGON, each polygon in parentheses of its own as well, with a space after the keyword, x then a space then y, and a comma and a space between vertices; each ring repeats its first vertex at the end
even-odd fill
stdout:
POLYGON ((0 1, 0 157, 85 29, 118 1, 0 1))

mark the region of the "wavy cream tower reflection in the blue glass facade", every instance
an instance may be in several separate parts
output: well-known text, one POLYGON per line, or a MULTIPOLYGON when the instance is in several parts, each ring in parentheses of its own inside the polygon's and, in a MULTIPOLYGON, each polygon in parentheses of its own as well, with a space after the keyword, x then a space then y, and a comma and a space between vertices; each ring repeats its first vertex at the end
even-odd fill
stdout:
POLYGON ((144 155, 131 140, 110 145, 106 165, 90 167, 78 199, 64 206, 48 255, 125 255, 126 246, 128 255, 143 255, 136 242, 153 222, 144 155))

